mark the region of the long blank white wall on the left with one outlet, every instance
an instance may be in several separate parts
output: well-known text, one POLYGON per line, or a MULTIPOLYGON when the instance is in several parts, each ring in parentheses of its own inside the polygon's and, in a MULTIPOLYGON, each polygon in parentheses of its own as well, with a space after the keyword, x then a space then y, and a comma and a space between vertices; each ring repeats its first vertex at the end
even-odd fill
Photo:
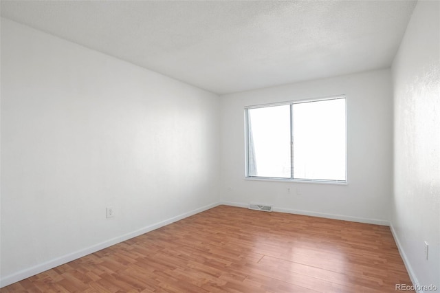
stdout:
POLYGON ((218 107, 1 19, 1 285, 217 203, 218 107))

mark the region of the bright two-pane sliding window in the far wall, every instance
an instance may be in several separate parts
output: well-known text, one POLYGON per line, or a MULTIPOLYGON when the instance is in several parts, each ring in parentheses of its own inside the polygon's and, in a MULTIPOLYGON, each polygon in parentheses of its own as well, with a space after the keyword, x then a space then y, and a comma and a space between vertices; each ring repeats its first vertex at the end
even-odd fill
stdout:
POLYGON ((347 182, 345 97, 245 108, 246 177, 347 182))

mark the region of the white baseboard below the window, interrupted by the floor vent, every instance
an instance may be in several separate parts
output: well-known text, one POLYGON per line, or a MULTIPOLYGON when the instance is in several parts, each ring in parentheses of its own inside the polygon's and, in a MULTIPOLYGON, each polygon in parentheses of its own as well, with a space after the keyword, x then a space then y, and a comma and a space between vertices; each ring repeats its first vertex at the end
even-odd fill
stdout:
MULTIPOLYGON (((226 206, 237 206, 240 208, 248 208, 249 206, 249 204, 243 204, 241 202, 219 202, 219 204, 225 204, 226 206)), ((345 215, 334 215, 328 213, 310 212, 308 210, 293 210, 291 208, 277 208, 276 206, 273 206, 272 210, 274 210, 274 212, 279 212, 279 213, 305 215, 305 216, 321 217, 327 219, 339 219, 343 221, 355 221, 358 223, 375 224, 381 226, 390 226, 390 223, 388 221, 381 219, 368 219, 368 218, 351 217, 345 215)))

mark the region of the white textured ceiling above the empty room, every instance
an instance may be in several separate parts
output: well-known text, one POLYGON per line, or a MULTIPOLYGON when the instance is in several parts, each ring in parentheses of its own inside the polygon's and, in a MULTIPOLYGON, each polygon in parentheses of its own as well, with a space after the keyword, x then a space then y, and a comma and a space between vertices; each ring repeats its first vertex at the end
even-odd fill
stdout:
POLYGON ((1 16, 226 94, 389 67, 415 1, 1 1, 1 16))

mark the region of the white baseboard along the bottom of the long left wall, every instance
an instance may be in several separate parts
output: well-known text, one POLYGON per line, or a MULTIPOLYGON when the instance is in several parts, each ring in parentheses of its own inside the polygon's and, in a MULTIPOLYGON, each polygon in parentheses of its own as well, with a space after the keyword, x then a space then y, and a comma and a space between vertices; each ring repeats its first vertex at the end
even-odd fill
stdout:
POLYGON ((102 250, 104 248, 107 248, 109 246, 113 246, 117 243, 120 243, 122 241, 126 241, 128 239, 133 238, 133 237, 137 237, 139 235, 145 234, 146 232, 150 232, 152 230, 155 230, 157 228, 174 223, 175 221, 179 221, 179 220, 184 219, 186 217, 190 217, 190 216, 195 215, 197 213, 201 213, 205 210, 209 210, 210 208, 214 208, 215 206, 218 206, 218 203, 208 204, 208 206, 202 206, 201 208, 196 208, 195 210, 190 210, 187 213, 183 213, 181 215, 171 217, 170 219, 166 219, 164 221, 159 221, 158 223, 146 226, 144 228, 141 228, 139 230, 135 230, 133 232, 126 233, 125 235, 115 237, 115 238, 109 239, 107 241, 103 241, 103 242, 98 243, 94 246, 90 246, 88 248, 84 248, 82 250, 78 250, 76 252, 72 252, 72 253, 63 255, 62 257, 57 257, 56 259, 52 259, 50 261, 45 261, 44 263, 40 263, 39 265, 33 266, 32 268, 27 268, 25 270, 15 272, 14 274, 10 274, 9 276, 3 277, 0 280, 0 287, 5 287, 5 286, 10 285, 12 283, 29 278, 30 276, 34 276, 35 274, 39 274, 41 272, 45 272, 46 270, 50 270, 52 268, 55 268, 58 265, 63 265, 64 263, 68 263, 69 261, 74 261, 75 259, 79 259, 80 257, 85 257, 88 254, 97 252, 97 251, 102 250))

